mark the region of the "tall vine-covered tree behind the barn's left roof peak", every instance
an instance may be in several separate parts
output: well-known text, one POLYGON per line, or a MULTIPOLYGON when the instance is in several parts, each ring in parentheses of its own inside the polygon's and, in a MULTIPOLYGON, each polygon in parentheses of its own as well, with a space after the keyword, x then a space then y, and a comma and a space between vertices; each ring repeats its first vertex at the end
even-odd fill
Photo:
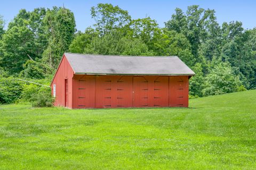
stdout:
POLYGON ((68 50, 76 31, 73 12, 67 8, 53 7, 47 10, 44 18, 45 31, 49 44, 43 53, 44 63, 57 68, 64 52, 68 50))

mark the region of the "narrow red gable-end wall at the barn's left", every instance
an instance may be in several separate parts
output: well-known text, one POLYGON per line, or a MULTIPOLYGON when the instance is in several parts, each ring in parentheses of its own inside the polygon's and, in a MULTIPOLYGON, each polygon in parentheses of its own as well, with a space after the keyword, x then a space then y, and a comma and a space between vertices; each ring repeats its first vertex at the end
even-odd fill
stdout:
POLYGON ((65 79, 67 79, 68 87, 67 87, 67 107, 73 108, 72 99, 73 99, 73 75, 74 71, 71 68, 70 64, 67 61, 67 58, 63 56, 60 65, 58 67, 57 72, 54 75, 54 79, 51 83, 52 95, 53 95, 53 85, 56 86, 56 97, 54 106, 65 106, 65 79))

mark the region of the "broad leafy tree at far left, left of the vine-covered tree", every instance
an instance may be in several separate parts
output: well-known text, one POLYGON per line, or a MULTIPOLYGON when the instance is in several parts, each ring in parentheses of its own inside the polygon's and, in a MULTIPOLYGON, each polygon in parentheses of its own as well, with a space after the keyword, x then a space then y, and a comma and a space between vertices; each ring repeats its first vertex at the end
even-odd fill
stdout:
POLYGON ((44 8, 32 12, 22 9, 9 23, 0 45, 0 65, 11 74, 19 73, 22 64, 31 58, 42 58, 47 39, 43 31, 44 8))

